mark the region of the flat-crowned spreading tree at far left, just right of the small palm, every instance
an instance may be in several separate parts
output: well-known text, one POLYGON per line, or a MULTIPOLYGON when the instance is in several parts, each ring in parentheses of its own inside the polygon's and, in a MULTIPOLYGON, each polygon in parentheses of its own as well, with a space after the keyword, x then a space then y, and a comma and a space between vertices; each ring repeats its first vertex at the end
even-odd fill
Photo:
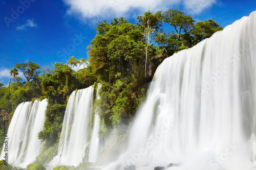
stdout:
POLYGON ((28 82, 33 79, 33 76, 36 76, 39 74, 40 71, 36 71, 36 69, 39 69, 39 65, 33 62, 28 62, 28 63, 20 63, 20 64, 16 64, 15 68, 18 68, 20 71, 23 72, 23 75, 26 78, 26 84, 25 86, 28 84, 28 82), (35 73, 35 75, 34 75, 35 73))

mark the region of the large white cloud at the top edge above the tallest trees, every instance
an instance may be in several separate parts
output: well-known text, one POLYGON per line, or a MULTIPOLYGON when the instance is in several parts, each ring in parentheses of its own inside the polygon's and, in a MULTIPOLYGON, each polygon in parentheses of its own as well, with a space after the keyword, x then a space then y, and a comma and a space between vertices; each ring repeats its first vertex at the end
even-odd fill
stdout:
POLYGON ((68 6, 68 14, 80 13, 84 18, 133 15, 132 10, 140 13, 165 11, 181 5, 187 13, 200 14, 217 0, 63 0, 68 6))

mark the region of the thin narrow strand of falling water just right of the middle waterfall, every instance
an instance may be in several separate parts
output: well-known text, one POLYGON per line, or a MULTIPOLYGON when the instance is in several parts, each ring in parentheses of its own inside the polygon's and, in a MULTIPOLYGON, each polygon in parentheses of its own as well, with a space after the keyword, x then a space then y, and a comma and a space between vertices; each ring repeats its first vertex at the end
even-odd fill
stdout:
MULTIPOLYGON (((98 84, 97 93, 96 93, 96 100, 100 99, 100 96, 99 96, 100 88, 101 88, 101 84, 98 84)), ((98 158, 98 154, 99 154, 99 151, 100 151, 99 131, 100 131, 100 117, 99 117, 98 110, 96 108, 95 114, 94 114, 94 124, 93 124, 92 137, 91 137, 91 141, 90 141, 89 158, 88 158, 89 162, 95 163, 97 158, 98 158)))

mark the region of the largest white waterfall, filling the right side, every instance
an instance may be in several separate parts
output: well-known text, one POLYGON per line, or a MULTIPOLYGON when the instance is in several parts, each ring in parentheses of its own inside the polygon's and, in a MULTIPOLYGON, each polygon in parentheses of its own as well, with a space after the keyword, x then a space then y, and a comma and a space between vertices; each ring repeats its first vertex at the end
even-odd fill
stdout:
POLYGON ((169 169, 256 169, 255 88, 253 12, 163 61, 131 127, 127 149, 104 169, 169 163, 177 163, 169 169))

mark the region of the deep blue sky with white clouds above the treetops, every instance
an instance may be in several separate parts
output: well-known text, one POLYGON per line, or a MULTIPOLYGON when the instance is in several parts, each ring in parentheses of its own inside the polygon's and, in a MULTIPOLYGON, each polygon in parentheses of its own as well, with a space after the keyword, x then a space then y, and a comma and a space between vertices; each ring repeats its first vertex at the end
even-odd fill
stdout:
MULTIPOLYGON (((145 11, 178 9, 194 20, 214 19, 226 27, 256 10, 255 0, 1 0, 0 83, 8 84, 17 63, 39 66, 87 58, 98 20, 123 16, 131 23, 145 11)), ((20 76, 22 74, 20 73, 20 76)))

